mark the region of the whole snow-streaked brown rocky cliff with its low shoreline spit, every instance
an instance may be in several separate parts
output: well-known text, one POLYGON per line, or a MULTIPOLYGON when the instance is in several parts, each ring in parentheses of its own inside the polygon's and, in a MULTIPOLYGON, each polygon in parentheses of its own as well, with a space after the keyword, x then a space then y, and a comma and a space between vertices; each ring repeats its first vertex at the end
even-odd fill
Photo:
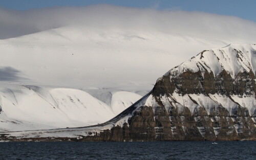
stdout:
POLYGON ((101 125, 2 132, 3 140, 256 140, 256 45, 203 51, 159 78, 150 93, 101 125))

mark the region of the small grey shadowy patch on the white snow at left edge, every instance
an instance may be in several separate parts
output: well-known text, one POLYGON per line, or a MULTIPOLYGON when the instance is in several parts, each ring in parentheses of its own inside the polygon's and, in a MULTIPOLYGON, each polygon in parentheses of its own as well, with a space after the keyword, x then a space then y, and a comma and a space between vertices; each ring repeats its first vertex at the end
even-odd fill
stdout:
POLYGON ((20 73, 20 71, 10 66, 0 67, 0 81, 17 82, 19 80, 25 80, 26 78, 21 77, 20 73))

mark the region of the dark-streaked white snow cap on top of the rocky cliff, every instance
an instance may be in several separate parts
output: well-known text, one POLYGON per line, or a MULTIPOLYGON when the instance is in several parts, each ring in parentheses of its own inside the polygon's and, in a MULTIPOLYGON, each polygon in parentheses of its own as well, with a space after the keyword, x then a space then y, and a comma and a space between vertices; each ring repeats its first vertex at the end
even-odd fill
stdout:
MULTIPOLYGON (((198 54, 169 72, 177 76, 184 71, 214 73, 216 77, 223 70, 234 78, 239 72, 252 70, 255 74, 256 45, 254 44, 229 44, 221 49, 212 49, 198 54)), ((167 72, 165 75, 167 75, 167 72)), ((202 73, 202 74, 203 74, 202 73)))

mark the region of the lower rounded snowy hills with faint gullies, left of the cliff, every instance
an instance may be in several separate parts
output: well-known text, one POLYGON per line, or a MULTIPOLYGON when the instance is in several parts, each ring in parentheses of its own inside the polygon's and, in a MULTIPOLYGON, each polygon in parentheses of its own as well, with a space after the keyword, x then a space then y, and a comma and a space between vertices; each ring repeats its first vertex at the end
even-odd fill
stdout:
POLYGON ((80 89, 1 83, 0 130, 95 125, 112 119, 140 98, 119 91, 107 99, 112 103, 109 105, 80 89))

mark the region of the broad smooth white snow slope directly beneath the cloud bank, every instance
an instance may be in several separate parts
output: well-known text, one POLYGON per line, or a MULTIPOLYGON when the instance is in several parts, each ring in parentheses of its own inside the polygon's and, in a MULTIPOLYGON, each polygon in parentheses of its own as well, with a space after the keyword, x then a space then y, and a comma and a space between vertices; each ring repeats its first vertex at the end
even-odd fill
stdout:
POLYGON ((150 90, 155 77, 166 68, 204 48, 228 43, 158 31, 62 27, 0 40, 1 77, 10 73, 0 80, 72 88, 150 90))

